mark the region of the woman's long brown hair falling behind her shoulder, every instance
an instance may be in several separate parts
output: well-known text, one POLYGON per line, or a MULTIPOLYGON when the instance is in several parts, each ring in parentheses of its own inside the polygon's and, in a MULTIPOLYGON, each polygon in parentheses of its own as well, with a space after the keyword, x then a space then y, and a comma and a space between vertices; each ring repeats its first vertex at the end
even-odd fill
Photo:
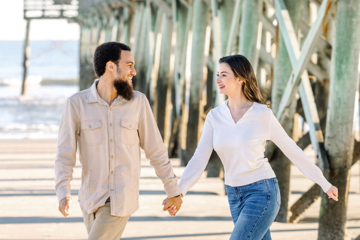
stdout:
POLYGON ((243 55, 230 55, 226 57, 221 57, 219 63, 229 64, 235 77, 239 77, 241 80, 244 81, 244 83, 242 84, 242 90, 248 100, 252 102, 266 104, 267 107, 270 106, 269 102, 267 102, 261 96, 254 70, 252 69, 250 62, 246 59, 246 57, 244 57, 243 55))

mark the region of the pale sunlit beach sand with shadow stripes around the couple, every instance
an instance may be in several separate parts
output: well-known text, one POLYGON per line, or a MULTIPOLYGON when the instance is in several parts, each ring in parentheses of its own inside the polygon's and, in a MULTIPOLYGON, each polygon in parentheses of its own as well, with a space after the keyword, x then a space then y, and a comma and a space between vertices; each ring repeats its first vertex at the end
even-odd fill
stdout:
MULTIPOLYGON (((54 191, 56 140, 0 140, 0 240, 84 240, 86 230, 77 203, 81 166, 72 181, 73 208, 69 217, 58 212, 54 191)), ((306 151, 311 155, 311 151, 306 151)), ((130 218, 122 239, 225 240, 233 228, 224 185, 219 178, 201 180, 183 199, 176 217, 162 211, 162 183, 149 161, 142 158, 140 209, 130 218)), ((184 167, 172 159, 177 176, 184 167)), ((347 229, 349 237, 360 234, 359 163, 351 170, 347 229)), ((292 166, 290 202, 296 201, 312 182, 292 166)), ((344 200, 339 197, 339 201, 344 200)), ((273 239, 316 240, 318 200, 297 224, 274 222, 273 239)), ((337 216, 333 220, 336 221, 337 216)), ((351 239, 351 238, 349 238, 351 239)))

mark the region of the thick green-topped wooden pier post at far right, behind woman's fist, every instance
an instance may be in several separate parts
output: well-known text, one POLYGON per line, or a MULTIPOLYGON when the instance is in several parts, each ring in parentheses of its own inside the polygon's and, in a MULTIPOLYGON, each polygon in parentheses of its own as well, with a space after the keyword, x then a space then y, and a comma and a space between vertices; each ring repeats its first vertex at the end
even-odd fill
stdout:
POLYGON ((329 81, 325 149, 329 182, 339 189, 339 201, 321 193, 318 240, 343 240, 346 234, 351 160, 354 152, 355 104, 359 104, 360 1, 337 1, 329 81), (337 216, 336 222, 329 221, 337 216))

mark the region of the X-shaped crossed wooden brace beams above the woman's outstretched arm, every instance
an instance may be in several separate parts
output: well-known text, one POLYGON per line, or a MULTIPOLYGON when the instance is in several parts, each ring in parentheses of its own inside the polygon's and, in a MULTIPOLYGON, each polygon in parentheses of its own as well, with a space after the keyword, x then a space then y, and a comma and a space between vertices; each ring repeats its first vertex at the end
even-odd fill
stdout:
POLYGON ((318 111, 316 109, 314 94, 312 93, 309 76, 307 74, 307 71, 304 71, 304 69, 305 64, 308 63, 312 51, 316 46, 317 40, 320 37, 320 28, 323 24, 323 21, 327 19, 327 15, 330 12, 328 10, 333 6, 333 2, 329 0, 324 0, 321 4, 318 10, 318 19, 316 19, 315 23, 311 26, 309 34, 306 36, 306 39, 304 41, 302 51, 300 51, 300 45, 297 42, 296 33, 292 26, 289 13, 285 8, 283 0, 274 0, 274 2, 279 28, 283 35, 285 46, 288 50, 289 59, 293 66, 293 72, 288 80, 288 84, 285 88, 282 101, 279 105, 279 110, 276 113, 276 117, 281 123, 283 113, 291 102, 291 96, 295 94, 295 87, 298 86, 298 84, 300 83, 299 77, 301 75, 299 92, 305 112, 306 121, 309 124, 310 128, 310 139, 316 156, 319 159, 318 164, 322 169, 327 169, 328 167, 324 166, 328 164, 323 144, 324 137, 319 124, 318 111))

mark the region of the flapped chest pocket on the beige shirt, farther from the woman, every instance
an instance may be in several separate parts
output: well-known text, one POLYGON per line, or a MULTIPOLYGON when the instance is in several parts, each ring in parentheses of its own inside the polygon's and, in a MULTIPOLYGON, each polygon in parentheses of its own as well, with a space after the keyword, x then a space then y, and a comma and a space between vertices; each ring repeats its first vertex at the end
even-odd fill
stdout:
POLYGON ((87 145, 97 145, 102 142, 101 121, 91 120, 81 122, 81 135, 87 145))

